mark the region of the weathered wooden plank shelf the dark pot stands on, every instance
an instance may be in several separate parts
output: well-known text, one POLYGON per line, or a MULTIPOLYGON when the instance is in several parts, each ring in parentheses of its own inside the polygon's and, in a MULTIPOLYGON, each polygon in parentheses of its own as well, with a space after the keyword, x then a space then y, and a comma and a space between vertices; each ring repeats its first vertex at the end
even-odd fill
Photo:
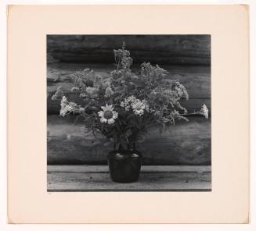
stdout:
MULTIPOLYGON (((86 168, 86 166, 82 166, 86 168)), ((94 166, 90 167, 91 169, 94 166)), ((211 171, 190 172, 176 168, 142 166, 136 183, 114 183, 110 179, 107 166, 95 166, 94 172, 70 172, 66 166, 49 166, 47 190, 50 191, 208 191, 211 190, 211 171), (54 169, 56 168, 56 171, 54 169), (63 171, 59 171, 62 169, 63 171), (168 170, 168 171, 166 171, 168 170)), ((207 166, 210 169, 210 166, 207 166)), ((75 167, 73 166, 72 169, 75 167)), ((197 168, 195 168, 197 169, 197 168)))

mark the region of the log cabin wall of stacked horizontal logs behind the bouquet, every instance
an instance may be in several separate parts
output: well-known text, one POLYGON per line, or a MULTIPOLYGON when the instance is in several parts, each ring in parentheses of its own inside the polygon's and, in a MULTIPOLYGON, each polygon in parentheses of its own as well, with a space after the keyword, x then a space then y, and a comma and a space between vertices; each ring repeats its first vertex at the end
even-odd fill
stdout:
MULTIPOLYGON (((114 69, 113 49, 126 49, 133 59, 132 71, 142 62, 158 64, 168 70, 189 92, 182 101, 189 112, 206 104, 211 115, 211 36, 210 35, 48 35, 47 36, 47 113, 48 164, 106 164, 112 145, 93 137, 74 118, 59 117, 59 101, 52 101, 58 86, 72 100, 70 74, 85 68, 108 76, 114 69)), ((211 164, 211 116, 189 117, 160 134, 150 130, 138 149, 144 165, 211 164)))

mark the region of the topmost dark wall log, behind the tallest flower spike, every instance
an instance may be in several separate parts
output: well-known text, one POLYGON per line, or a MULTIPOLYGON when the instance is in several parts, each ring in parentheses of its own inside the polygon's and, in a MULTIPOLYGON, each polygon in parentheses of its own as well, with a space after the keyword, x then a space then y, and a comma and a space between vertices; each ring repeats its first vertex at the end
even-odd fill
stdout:
POLYGON ((134 62, 210 65, 210 35, 48 35, 49 62, 114 62, 122 42, 134 62))

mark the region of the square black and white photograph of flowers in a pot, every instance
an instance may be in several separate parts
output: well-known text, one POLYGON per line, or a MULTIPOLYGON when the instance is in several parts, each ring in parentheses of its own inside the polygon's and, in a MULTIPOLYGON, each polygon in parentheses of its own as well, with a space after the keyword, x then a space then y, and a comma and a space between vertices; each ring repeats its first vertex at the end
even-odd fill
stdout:
POLYGON ((211 191, 210 34, 48 34, 47 191, 211 191))

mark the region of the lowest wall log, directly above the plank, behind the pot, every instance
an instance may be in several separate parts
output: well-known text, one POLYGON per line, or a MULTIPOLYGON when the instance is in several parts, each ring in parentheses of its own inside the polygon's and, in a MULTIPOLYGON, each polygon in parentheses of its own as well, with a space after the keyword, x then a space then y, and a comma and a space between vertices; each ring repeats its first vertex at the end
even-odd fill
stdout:
MULTIPOLYGON (((208 165, 211 163, 211 119, 189 118, 189 123, 169 126, 160 134, 150 130, 146 140, 137 144, 144 165, 208 165)), ((48 116, 49 164, 106 164, 113 144, 93 137, 85 125, 74 126, 74 116, 48 116)))

